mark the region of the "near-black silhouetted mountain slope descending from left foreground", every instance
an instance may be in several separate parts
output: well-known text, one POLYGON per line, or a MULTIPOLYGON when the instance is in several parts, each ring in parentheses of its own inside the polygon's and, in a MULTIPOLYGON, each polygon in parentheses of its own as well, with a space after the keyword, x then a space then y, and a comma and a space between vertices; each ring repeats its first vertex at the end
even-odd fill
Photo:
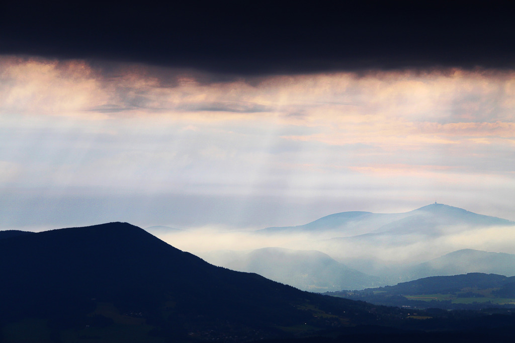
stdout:
POLYGON ((41 331, 37 341, 91 332, 94 341, 116 341, 106 338, 110 328, 135 323, 140 341, 251 340, 379 318, 368 304, 215 267, 120 222, 0 239, 0 275, 6 341, 27 328, 41 331))

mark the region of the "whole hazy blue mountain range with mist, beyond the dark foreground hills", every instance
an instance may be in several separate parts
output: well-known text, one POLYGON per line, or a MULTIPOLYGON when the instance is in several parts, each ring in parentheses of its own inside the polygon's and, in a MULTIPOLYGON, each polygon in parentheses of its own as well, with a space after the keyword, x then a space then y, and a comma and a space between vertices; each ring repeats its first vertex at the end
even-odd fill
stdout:
POLYGON ((207 261, 312 291, 363 289, 468 272, 515 275, 515 222, 433 203, 390 214, 342 212, 247 233, 252 250, 196 252, 207 261))

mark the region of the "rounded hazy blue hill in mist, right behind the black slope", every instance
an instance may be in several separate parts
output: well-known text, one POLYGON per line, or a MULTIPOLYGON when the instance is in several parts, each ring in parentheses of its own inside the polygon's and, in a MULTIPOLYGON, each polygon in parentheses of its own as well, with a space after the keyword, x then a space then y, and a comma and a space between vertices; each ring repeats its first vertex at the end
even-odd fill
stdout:
POLYGON ((250 252, 216 251, 202 256, 213 264, 258 273, 303 290, 321 292, 381 285, 379 278, 349 268, 316 250, 262 248, 250 252))

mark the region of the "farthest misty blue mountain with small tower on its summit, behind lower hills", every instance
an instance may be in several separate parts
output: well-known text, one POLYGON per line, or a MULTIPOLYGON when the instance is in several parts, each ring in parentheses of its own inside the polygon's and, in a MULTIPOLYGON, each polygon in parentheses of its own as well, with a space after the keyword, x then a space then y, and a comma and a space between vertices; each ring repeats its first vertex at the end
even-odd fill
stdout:
MULTIPOLYGON (((502 237, 508 235, 511 239, 514 226, 515 222, 510 220, 433 203, 397 214, 338 213, 298 227, 259 230, 259 234, 291 237, 291 243, 285 247, 324 252, 350 268, 390 283, 438 275, 407 275, 411 271, 406 268, 449 251, 478 247, 491 251, 499 247, 509 249, 502 237)), ((424 268, 430 267, 421 267, 424 268)), ((456 269, 454 273, 471 271, 508 273, 506 269, 456 269)))

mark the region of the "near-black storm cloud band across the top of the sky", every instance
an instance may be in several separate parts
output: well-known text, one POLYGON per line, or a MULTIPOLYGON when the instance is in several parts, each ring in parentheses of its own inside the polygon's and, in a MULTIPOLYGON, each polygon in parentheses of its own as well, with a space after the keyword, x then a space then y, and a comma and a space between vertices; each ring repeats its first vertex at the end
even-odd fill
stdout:
POLYGON ((12 2, 0 53, 216 73, 515 66, 508 2, 12 2))

